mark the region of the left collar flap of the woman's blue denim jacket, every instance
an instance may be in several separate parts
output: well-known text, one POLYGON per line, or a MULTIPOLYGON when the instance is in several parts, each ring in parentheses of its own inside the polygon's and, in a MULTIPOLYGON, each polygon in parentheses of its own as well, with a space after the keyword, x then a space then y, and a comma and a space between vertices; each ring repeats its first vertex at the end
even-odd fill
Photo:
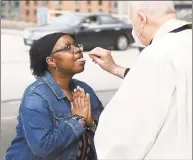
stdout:
MULTIPOLYGON (((49 72, 46 72, 45 75, 41 78, 46 82, 46 84, 49 86, 49 88, 58 99, 66 97, 60 86, 56 83, 55 79, 49 72)), ((72 82, 70 83, 70 85, 73 85, 72 82)))

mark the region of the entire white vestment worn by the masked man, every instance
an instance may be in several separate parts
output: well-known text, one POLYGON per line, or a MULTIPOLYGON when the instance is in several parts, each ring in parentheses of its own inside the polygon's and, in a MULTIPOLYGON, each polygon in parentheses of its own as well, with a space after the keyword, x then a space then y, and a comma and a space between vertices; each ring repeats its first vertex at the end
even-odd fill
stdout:
POLYGON ((99 160, 192 159, 192 30, 169 20, 105 107, 95 133, 99 160))

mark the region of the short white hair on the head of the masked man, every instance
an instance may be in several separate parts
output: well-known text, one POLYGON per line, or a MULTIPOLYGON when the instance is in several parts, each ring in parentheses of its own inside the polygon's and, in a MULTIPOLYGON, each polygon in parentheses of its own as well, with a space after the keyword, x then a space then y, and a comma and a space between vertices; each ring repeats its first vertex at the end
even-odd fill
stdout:
POLYGON ((147 11, 156 17, 176 13, 174 1, 130 1, 130 5, 135 15, 139 10, 147 11))

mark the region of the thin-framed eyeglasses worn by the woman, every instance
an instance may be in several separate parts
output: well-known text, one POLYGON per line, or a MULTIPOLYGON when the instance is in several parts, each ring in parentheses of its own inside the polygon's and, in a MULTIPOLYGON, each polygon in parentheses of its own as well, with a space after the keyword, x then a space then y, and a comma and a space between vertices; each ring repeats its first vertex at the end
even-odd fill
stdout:
POLYGON ((72 44, 72 45, 68 45, 66 47, 63 47, 59 50, 56 50, 54 52, 51 53, 51 55, 57 53, 57 52, 70 52, 70 53, 73 53, 75 52, 75 49, 80 49, 81 51, 83 51, 83 45, 82 44, 72 44))

